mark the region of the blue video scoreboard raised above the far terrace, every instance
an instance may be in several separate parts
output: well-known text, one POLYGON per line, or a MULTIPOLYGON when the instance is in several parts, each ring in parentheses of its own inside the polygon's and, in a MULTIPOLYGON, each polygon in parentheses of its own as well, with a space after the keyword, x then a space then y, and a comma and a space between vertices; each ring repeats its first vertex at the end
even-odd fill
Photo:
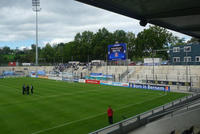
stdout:
POLYGON ((108 45, 108 60, 126 60, 126 44, 108 45))

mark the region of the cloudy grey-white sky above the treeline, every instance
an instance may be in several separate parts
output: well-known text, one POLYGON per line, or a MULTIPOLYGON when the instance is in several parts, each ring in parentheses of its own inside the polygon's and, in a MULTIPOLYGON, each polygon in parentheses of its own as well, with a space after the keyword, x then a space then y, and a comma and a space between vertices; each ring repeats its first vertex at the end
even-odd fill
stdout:
MULTIPOLYGON (((47 43, 69 42, 77 33, 97 32, 105 27, 110 32, 124 30, 137 34, 146 27, 139 21, 75 0, 40 0, 39 47, 47 43)), ((173 32, 173 31, 172 31, 173 32)), ((173 32, 189 40, 190 37, 173 32)), ((30 48, 35 44, 35 12, 32 0, 0 0, 0 48, 30 48)))

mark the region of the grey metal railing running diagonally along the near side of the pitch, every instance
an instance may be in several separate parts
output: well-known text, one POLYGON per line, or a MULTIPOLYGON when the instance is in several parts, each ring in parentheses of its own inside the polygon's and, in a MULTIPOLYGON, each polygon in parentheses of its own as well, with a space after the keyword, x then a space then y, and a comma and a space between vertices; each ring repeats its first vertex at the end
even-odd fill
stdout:
MULTIPOLYGON (((166 112, 166 110, 168 109, 169 111, 168 112, 171 112, 171 111, 175 111, 175 110, 170 110, 170 108, 173 108, 173 107, 176 107, 177 106, 177 109, 180 108, 180 104, 187 104, 187 102, 189 102, 190 100, 193 100, 193 98, 199 98, 200 97, 200 94, 192 94, 190 96, 185 96, 183 98, 180 98, 180 99, 177 99, 177 100, 174 100, 170 103, 167 103, 167 104, 164 104, 162 106, 159 106, 159 107, 156 107, 154 109, 151 109, 149 111, 146 111, 144 113, 141 113, 141 114, 138 114, 136 116, 133 116, 133 117, 130 117, 130 118, 127 118, 125 120, 122 120, 120 122, 117 122, 115 124, 112 124, 110 126, 107 126, 107 127, 104 127, 102 129, 99 129, 99 130, 96 130, 94 132, 91 132, 89 134, 112 134, 116 131, 119 131, 118 133, 123 133, 122 131, 124 130, 124 128, 126 126, 129 126, 131 124, 134 124, 132 125, 132 130, 134 128, 138 128, 142 125, 145 125, 146 123, 148 123, 148 118, 152 117, 152 116, 155 116, 155 115, 162 115, 163 112, 166 112), (142 121, 143 120, 143 121, 142 121), (141 122, 140 122, 141 121, 141 122), (139 123, 140 122, 140 123, 139 123)), ((188 108, 188 105, 185 105, 187 108, 188 108)))

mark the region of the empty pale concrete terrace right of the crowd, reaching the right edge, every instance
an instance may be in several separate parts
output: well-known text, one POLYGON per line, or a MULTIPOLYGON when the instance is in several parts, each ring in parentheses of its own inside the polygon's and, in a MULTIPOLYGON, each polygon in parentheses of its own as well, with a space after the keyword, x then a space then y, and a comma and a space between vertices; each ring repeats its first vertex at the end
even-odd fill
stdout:
MULTIPOLYGON (((93 68, 91 72, 119 74, 128 70, 125 81, 161 80, 175 82, 191 82, 193 88, 200 88, 200 66, 102 66, 93 68)), ((189 90, 186 86, 171 86, 174 90, 189 90)))

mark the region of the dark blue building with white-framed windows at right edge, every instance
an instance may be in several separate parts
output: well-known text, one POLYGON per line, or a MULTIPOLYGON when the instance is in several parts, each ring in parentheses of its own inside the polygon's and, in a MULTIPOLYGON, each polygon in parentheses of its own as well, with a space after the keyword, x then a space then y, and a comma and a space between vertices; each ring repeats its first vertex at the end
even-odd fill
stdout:
POLYGON ((172 46, 169 55, 172 65, 200 65, 200 44, 172 46))

